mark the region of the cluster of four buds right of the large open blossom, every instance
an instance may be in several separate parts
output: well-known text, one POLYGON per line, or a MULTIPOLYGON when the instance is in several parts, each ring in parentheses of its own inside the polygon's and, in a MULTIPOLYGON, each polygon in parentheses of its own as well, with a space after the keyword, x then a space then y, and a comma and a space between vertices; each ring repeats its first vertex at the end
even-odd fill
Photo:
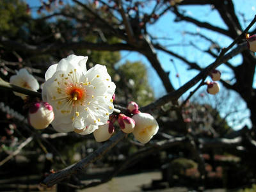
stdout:
POLYGON ((159 126, 156 119, 148 113, 141 113, 136 102, 129 102, 127 114, 129 115, 120 113, 118 116, 112 116, 108 124, 100 126, 93 132, 95 140, 98 142, 108 140, 114 132, 113 123, 116 120, 123 132, 132 133, 141 143, 147 143, 157 133, 159 126))

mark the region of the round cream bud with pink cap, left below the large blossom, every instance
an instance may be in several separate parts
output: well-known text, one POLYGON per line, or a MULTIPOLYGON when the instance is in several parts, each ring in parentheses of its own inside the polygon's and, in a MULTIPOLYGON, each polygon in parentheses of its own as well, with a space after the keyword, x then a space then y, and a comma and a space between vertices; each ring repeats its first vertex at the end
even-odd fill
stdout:
POLYGON ((35 102, 29 108, 28 121, 35 129, 45 129, 53 119, 52 106, 47 102, 35 102))

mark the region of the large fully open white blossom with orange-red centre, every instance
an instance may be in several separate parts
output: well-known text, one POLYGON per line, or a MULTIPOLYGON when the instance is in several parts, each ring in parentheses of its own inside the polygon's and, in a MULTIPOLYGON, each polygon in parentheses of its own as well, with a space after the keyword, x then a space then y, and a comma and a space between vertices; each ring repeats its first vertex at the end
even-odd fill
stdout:
POLYGON ((52 105, 56 131, 90 134, 113 113, 115 83, 104 65, 86 70, 87 60, 70 55, 45 73, 42 98, 52 105))

